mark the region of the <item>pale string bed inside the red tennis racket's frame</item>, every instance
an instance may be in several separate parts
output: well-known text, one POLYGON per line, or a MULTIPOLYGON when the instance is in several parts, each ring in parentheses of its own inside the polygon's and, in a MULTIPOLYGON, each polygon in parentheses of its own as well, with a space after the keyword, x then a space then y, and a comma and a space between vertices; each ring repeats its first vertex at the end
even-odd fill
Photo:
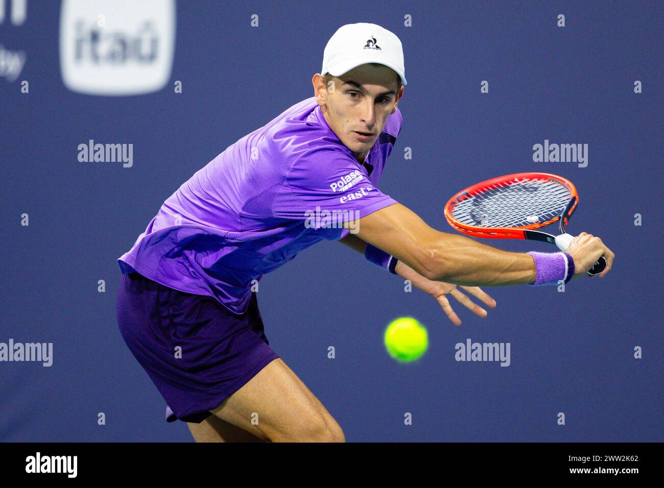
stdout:
POLYGON ((452 216, 478 227, 524 227, 560 216, 571 196, 554 180, 504 181, 457 203, 452 216))

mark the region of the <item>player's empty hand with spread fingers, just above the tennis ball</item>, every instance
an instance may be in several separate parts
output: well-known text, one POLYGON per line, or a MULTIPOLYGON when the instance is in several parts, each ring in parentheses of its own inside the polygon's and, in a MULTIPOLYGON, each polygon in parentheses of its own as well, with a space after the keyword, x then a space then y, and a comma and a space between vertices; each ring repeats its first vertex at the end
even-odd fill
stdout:
MULTIPOLYGON (((454 325, 461 325, 461 319, 459 319, 459 316, 452 309, 452 305, 450 305, 450 301, 448 299, 449 295, 455 297, 457 301, 461 303, 461 305, 472 311, 478 317, 486 317, 488 315, 485 309, 477 305, 477 303, 473 303, 473 301, 471 301, 467 295, 461 293, 461 290, 457 287, 457 285, 428 280, 401 261, 398 262, 395 271, 399 276, 402 276, 406 280, 410 280, 414 287, 421 289, 425 293, 428 293, 434 297, 436 301, 440 303, 443 311, 446 313, 450 321, 454 323, 454 325)), ((496 301, 487 293, 485 293, 479 286, 461 285, 460 287, 474 297, 480 299, 482 303, 487 305, 487 307, 495 308, 496 301)))

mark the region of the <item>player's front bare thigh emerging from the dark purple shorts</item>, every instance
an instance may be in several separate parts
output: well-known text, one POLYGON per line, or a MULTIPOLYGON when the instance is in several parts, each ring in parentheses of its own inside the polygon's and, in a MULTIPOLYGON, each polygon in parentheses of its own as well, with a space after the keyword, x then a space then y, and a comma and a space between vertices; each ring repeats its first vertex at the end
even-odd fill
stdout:
POLYGON ((210 412, 271 442, 345 442, 337 421, 281 358, 210 412))

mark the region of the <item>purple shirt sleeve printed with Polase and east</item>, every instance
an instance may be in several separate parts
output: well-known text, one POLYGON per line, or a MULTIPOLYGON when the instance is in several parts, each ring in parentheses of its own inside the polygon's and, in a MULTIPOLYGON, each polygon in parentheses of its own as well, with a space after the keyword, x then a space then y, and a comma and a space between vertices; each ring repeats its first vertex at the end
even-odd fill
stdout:
POLYGON ((313 228, 340 228, 333 239, 349 234, 343 223, 357 220, 396 201, 381 193, 351 155, 312 148, 293 163, 273 203, 275 216, 305 220, 313 228))

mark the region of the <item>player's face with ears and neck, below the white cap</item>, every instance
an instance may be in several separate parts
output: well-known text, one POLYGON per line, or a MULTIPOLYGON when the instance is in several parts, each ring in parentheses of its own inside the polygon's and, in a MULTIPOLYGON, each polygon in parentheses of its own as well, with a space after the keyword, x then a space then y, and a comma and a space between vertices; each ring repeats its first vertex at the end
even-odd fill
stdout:
POLYGON ((396 92, 397 76, 387 66, 371 64, 332 78, 329 86, 323 86, 319 74, 314 76, 316 98, 325 120, 359 162, 364 161, 374 145, 387 116, 396 112, 404 91, 402 87, 396 92))

